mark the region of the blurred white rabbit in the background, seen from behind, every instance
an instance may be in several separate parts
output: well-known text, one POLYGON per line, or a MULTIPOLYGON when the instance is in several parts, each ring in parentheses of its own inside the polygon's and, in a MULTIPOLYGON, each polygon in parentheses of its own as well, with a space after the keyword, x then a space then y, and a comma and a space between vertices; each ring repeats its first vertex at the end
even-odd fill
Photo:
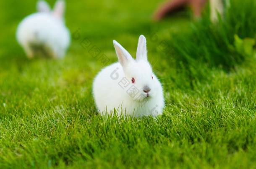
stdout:
POLYGON ((26 55, 62 58, 70 45, 70 32, 63 18, 65 2, 57 0, 53 11, 44 0, 37 2, 37 13, 24 18, 18 25, 16 39, 26 55))

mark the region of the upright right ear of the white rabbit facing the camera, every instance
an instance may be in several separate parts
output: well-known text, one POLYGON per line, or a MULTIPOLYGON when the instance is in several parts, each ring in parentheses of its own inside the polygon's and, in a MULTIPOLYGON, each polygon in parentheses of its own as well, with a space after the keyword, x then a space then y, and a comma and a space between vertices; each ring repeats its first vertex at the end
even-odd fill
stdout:
POLYGON ((138 38, 136 59, 147 61, 146 38, 143 35, 138 38))

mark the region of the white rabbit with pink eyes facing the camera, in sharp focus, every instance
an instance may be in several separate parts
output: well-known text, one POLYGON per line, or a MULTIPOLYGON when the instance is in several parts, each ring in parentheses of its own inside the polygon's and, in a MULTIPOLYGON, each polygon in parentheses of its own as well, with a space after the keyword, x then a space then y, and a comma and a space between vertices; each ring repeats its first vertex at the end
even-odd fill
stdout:
POLYGON ((118 42, 113 41, 118 63, 103 68, 93 82, 93 96, 101 115, 162 114, 164 96, 161 83, 147 61, 146 38, 138 40, 136 60, 118 42))

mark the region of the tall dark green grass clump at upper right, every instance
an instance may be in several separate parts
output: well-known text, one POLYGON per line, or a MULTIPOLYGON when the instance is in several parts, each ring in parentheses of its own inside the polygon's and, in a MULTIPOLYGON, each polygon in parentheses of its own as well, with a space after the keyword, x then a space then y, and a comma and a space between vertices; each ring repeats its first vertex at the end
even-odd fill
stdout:
POLYGON ((176 66, 185 66, 193 79, 208 76, 204 69, 222 68, 228 72, 244 61, 251 61, 256 54, 255 8, 256 1, 231 0, 226 15, 215 23, 206 9, 204 17, 189 25, 188 31, 172 34, 168 43, 176 53, 169 54, 167 48, 167 58, 175 58, 176 66))

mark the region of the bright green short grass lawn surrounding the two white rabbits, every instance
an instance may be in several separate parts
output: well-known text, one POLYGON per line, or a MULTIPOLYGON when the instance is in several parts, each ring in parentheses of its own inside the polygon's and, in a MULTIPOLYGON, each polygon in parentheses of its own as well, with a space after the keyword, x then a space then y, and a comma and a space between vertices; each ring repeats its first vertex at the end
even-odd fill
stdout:
MULTIPOLYGON (((252 1, 243 2, 251 9, 252 1)), ((234 41, 235 34, 255 38, 255 10, 245 12, 237 3, 228 16, 238 16, 234 9, 239 9, 247 17, 238 23, 230 18, 227 24, 240 25, 239 29, 227 33, 223 26, 214 29, 223 34, 209 35, 225 35, 234 48, 231 53, 225 45, 214 46, 225 54, 215 60, 216 53, 204 53, 212 49, 203 43, 209 40, 204 36, 209 28, 196 39, 204 37, 204 50, 189 38, 183 41, 184 50, 177 44, 179 37, 184 40, 207 23, 193 23, 198 27, 191 30, 186 13, 154 23, 150 16, 159 2, 67 3, 66 23, 71 33, 81 28, 81 38, 73 39, 67 56, 56 61, 28 60, 16 43, 16 26, 35 11, 35 2, 0 1, 1 169, 256 168, 256 58, 242 55, 240 41, 234 41), (91 83, 102 63, 81 47, 81 40, 89 38, 113 63, 117 57, 112 40, 134 56, 141 34, 164 86, 164 114, 157 119, 98 116, 91 83), (150 40, 154 35, 158 40, 150 40), (161 50, 162 40, 173 47, 168 53, 161 50), (192 59, 184 58, 182 51, 192 59), (243 59, 225 61, 230 55, 243 59)), ((223 44, 223 39, 209 44, 223 44)))

